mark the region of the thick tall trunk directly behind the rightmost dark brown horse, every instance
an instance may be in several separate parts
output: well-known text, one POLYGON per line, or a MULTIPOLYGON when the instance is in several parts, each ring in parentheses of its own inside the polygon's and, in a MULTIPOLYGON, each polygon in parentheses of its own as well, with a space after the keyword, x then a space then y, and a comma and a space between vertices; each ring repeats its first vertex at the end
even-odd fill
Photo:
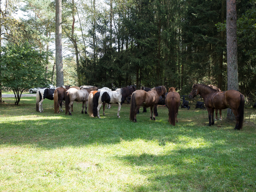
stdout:
MULTIPOLYGON (((227 0, 227 76, 228 90, 238 90, 236 0, 227 0)), ((235 119, 231 109, 227 118, 235 119)))

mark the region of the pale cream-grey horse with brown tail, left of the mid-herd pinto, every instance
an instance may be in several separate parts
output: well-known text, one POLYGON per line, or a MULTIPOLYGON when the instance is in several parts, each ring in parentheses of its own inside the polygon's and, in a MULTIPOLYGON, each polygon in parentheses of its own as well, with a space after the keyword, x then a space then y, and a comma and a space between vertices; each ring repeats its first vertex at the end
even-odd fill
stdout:
POLYGON ((81 88, 81 90, 78 90, 76 88, 70 88, 69 90, 67 90, 65 94, 66 114, 68 113, 69 115, 72 115, 70 109, 74 101, 83 102, 83 107, 81 112, 83 114, 83 109, 85 108, 85 114, 87 114, 87 103, 88 103, 89 93, 90 91, 97 90, 97 89, 98 88, 95 86, 90 86, 88 88, 81 88))

